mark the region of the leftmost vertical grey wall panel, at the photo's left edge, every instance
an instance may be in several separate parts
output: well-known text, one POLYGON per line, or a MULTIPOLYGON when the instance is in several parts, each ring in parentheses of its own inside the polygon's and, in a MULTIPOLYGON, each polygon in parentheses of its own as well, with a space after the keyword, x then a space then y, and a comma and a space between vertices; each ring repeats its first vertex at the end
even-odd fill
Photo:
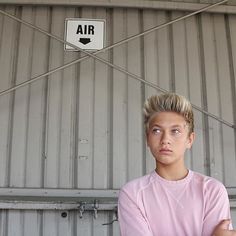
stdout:
MULTIPOLYGON (((15 14, 15 9, 10 7, 6 8, 12 14, 15 14)), ((6 89, 13 86, 14 81, 14 71, 15 71, 15 55, 17 51, 17 23, 13 20, 1 16, 1 54, 0 54, 0 71, 1 71, 1 80, 0 86, 1 89, 6 89), (4 46, 3 46, 4 45, 4 46)), ((6 97, 0 99, 0 127, 1 127, 1 136, 0 136, 0 146, 1 146, 1 186, 8 186, 8 166, 10 158, 10 132, 11 132, 11 119, 12 119, 12 101, 13 94, 8 94, 6 97)))

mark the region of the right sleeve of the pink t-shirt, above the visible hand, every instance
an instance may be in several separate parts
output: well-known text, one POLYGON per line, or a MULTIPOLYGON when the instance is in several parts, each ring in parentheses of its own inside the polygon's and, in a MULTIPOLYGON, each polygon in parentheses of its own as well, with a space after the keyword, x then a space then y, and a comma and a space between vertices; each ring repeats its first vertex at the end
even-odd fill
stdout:
MULTIPOLYGON (((222 185, 206 194, 202 236, 211 236, 215 227, 224 219, 231 219, 228 193, 222 185)), ((232 229, 230 224, 229 229, 232 229)))

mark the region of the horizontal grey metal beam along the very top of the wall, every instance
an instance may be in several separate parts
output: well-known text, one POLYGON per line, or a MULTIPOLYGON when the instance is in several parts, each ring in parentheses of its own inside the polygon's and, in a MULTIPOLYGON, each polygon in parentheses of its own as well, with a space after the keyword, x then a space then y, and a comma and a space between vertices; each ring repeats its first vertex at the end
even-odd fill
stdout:
MULTIPOLYGON (((219 1, 220 2, 220 1, 219 1)), ((157 10, 174 10, 174 11, 196 11, 201 7, 212 4, 212 0, 0 0, 0 4, 18 4, 18 5, 63 5, 63 6, 90 6, 90 7, 110 7, 110 8, 139 8, 139 9, 157 9, 157 10)), ((223 4, 223 3, 221 3, 223 4)), ((228 0, 224 2, 224 5, 220 5, 216 8, 208 10, 214 13, 236 13, 236 5, 234 0, 228 0)))

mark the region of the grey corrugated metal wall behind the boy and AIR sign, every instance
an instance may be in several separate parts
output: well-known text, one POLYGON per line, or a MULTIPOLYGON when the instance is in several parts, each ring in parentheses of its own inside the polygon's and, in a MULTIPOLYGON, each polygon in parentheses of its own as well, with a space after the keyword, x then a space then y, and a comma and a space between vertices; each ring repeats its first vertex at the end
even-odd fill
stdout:
MULTIPOLYGON (((106 19, 106 42, 182 16, 125 8, 0 6, 64 38, 68 17, 106 19)), ((84 56, 0 14, 0 90, 84 56)), ((235 124, 236 16, 203 13, 99 55, 235 124)), ((157 93, 95 60, 60 70, 0 97, 0 187, 119 189, 154 168, 142 104, 157 93)), ((235 130, 195 111, 197 139, 187 165, 236 194, 235 130)), ((236 208, 232 208, 236 225, 236 208)), ((1 236, 119 235, 118 224, 71 211, 1 210, 1 236)))

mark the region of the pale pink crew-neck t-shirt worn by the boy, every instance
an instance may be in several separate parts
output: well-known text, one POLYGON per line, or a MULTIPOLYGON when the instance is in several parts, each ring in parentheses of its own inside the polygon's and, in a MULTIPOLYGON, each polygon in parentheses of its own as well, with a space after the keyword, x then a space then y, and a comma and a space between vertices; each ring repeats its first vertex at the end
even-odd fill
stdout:
POLYGON ((153 171, 123 186, 118 216, 122 236, 211 236, 230 219, 230 205, 224 185, 211 177, 190 170, 168 181, 153 171))

